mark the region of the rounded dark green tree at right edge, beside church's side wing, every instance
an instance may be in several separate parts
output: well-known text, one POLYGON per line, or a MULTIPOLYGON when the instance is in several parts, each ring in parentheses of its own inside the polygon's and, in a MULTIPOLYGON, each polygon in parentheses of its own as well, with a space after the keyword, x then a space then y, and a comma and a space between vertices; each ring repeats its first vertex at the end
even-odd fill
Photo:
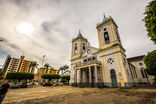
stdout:
POLYGON ((155 75, 156 76, 156 50, 148 53, 144 57, 144 63, 147 67, 147 73, 149 75, 155 75))

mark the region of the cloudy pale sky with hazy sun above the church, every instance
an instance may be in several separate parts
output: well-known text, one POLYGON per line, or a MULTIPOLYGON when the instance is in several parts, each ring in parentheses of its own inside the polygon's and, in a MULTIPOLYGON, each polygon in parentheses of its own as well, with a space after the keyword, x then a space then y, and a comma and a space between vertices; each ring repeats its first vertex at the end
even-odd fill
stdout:
POLYGON ((71 41, 79 29, 99 47, 96 24, 103 13, 118 25, 127 57, 147 54, 156 48, 142 21, 149 1, 0 0, 0 65, 7 55, 25 55, 40 66, 46 55, 44 63, 54 68, 70 65, 71 41))

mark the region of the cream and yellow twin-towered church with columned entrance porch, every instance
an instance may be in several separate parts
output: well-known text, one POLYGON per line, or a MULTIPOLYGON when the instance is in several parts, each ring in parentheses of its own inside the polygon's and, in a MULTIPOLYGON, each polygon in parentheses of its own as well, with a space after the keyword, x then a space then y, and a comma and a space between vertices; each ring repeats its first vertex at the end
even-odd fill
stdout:
POLYGON ((90 46, 78 33, 72 40, 70 84, 78 87, 133 87, 152 82, 143 57, 126 58, 112 17, 104 16, 96 26, 99 48, 90 46))

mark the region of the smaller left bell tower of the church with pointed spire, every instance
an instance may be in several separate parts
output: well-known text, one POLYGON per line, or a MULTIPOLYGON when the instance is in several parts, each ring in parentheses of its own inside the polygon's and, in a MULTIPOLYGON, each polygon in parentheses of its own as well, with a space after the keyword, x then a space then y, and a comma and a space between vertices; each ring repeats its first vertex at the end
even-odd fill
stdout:
POLYGON ((88 46, 88 40, 84 38, 79 30, 78 36, 72 40, 72 58, 80 58, 88 46))

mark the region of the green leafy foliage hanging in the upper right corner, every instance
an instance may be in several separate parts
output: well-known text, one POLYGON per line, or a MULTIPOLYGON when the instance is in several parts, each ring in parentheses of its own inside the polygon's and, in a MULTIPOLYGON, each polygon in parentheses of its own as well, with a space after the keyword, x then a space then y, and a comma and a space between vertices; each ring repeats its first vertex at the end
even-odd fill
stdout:
POLYGON ((156 0, 152 0, 148 3, 145 9, 146 16, 143 21, 145 22, 148 36, 156 44, 156 0))

